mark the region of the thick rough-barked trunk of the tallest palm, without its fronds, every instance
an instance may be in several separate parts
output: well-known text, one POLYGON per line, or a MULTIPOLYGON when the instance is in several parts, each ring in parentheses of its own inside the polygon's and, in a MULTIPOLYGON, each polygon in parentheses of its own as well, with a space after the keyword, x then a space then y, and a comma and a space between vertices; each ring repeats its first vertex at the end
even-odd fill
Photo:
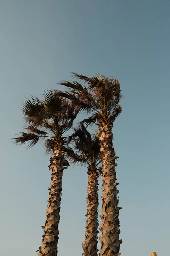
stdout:
POLYGON ((99 124, 99 140, 101 145, 100 157, 102 160, 102 225, 100 231, 102 236, 99 236, 101 241, 100 256, 120 256, 120 244, 122 240, 119 240, 119 210, 118 207, 119 198, 117 194, 116 183, 116 170, 115 159, 118 158, 115 155, 113 147, 113 133, 111 131, 112 124, 107 122, 100 122, 99 124))

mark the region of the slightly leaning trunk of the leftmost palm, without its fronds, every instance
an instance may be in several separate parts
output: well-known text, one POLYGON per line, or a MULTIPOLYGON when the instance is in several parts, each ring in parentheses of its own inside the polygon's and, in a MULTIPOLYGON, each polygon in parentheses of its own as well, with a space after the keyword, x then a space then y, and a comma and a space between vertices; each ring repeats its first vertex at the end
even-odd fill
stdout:
POLYGON ((49 170, 52 170, 51 187, 49 188, 48 206, 42 245, 39 247, 38 256, 57 256, 58 225, 60 221, 60 203, 62 192, 63 170, 69 166, 64 158, 62 145, 54 149, 54 156, 50 158, 49 170), (66 167, 65 167, 66 166, 66 167))

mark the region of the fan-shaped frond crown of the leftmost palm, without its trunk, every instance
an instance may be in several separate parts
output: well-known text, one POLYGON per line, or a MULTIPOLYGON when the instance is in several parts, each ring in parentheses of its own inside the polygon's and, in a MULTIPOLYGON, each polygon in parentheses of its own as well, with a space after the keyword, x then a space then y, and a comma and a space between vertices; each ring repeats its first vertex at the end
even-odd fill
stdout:
POLYGON ((53 152, 57 142, 66 143, 62 135, 68 131, 77 116, 78 109, 73 110, 68 100, 58 95, 59 91, 49 90, 43 93, 42 100, 37 97, 26 99, 23 104, 23 116, 26 131, 20 132, 14 142, 18 145, 28 142, 28 148, 39 140, 45 140, 47 153, 53 152))

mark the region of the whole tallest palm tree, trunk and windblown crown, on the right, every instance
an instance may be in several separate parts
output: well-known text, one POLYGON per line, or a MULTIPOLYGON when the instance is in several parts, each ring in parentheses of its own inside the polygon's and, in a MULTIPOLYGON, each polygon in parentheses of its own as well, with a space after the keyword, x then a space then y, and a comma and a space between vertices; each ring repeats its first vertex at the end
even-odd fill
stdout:
POLYGON ((100 158, 102 160, 102 225, 100 230, 102 236, 100 256, 119 256, 119 197, 117 194, 115 159, 118 158, 113 147, 112 127, 116 117, 121 113, 119 101, 122 97, 119 81, 115 78, 107 78, 103 75, 87 77, 72 73, 73 77, 84 81, 86 86, 82 86, 77 81, 63 81, 59 84, 70 88, 68 92, 61 93, 65 98, 71 99, 75 108, 81 107, 91 113, 88 119, 83 120, 85 125, 93 124, 97 121, 99 127, 100 158))

